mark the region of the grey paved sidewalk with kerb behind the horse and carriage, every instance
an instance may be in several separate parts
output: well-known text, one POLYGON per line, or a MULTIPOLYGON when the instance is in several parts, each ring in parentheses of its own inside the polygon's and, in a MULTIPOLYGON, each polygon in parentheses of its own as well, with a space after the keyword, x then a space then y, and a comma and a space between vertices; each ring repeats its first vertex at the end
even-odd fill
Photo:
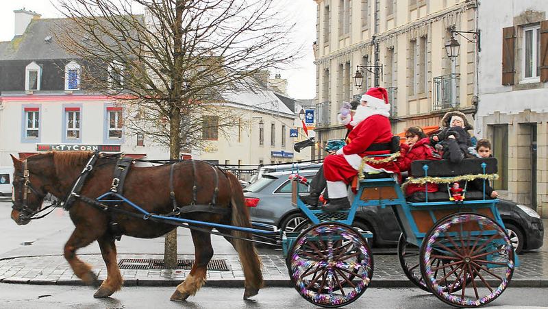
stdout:
MULTIPOLYGON (((106 268, 100 254, 83 254, 82 260, 92 265, 99 280, 106 277, 106 268)), ((120 259, 162 258, 161 255, 119 254, 120 259)), ((192 255, 179 255, 193 259, 192 255)), ((263 275, 266 286, 292 286, 286 263, 281 255, 262 254, 263 275)), ((225 260, 228 271, 208 271, 207 286, 243 286, 244 275, 236 254, 215 255, 214 260, 225 260)), ((529 252, 519 256, 520 267, 512 277, 512 286, 548 286, 548 253, 529 252)), ((371 286, 408 287, 412 283, 403 275, 397 255, 373 254, 375 268, 371 286)), ((188 270, 121 269, 125 286, 177 286, 188 270)), ((81 285, 63 256, 26 256, 0 260, 0 282, 23 284, 81 285)))

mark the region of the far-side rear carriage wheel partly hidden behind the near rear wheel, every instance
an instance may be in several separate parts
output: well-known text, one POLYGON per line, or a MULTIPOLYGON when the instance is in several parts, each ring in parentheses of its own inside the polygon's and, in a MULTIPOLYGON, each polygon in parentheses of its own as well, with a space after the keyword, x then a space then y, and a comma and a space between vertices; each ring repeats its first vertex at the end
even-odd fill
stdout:
MULTIPOLYGON (((423 291, 427 291, 429 293, 432 293, 430 291, 430 288, 426 284, 425 280, 423 279, 423 275, 421 274, 421 267, 420 266, 420 258, 419 258, 419 247, 416 247, 416 245, 413 245, 411 243, 408 243, 406 240, 406 236, 402 234, 399 234, 399 241, 398 241, 398 258, 399 258, 399 264, 401 265, 401 269, 403 269, 403 273, 406 274, 406 277, 410 280, 410 282, 413 282, 414 285, 421 288, 423 291)), ((451 260, 443 260, 443 259, 434 259, 434 265, 435 267, 439 267, 443 264, 449 264, 453 261, 451 260)), ((451 267, 449 267, 451 268, 451 267)), ((441 271, 435 271, 434 276, 438 278, 443 278, 447 275, 447 271, 445 269, 442 269, 441 271)), ((444 291, 449 290, 449 285, 453 284, 453 280, 457 278, 457 274, 449 275, 443 282, 438 282, 440 286, 444 289, 444 291)), ((462 287, 462 282, 456 282, 452 286, 452 291, 459 291, 462 287)))

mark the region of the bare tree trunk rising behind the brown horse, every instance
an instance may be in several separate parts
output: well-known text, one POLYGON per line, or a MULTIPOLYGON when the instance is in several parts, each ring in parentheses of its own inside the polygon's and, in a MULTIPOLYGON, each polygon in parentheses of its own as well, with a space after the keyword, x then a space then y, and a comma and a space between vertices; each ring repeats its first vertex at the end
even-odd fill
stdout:
MULTIPOLYGON (((175 70, 171 72, 171 106, 169 110, 169 158, 179 160, 181 151, 181 108, 178 105, 182 95, 182 16, 184 1, 178 0, 175 6, 175 23, 173 25, 173 57, 175 70)), ((169 232, 164 240, 164 266, 168 269, 177 268, 177 229, 169 232)))

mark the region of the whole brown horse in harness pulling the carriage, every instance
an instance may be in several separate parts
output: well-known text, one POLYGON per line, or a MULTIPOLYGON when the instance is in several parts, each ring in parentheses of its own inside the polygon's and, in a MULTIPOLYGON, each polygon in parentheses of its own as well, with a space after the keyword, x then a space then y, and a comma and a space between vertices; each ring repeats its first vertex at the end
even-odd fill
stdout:
MULTIPOLYGON (((29 223, 29 217, 40 210, 47 193, 64 197, 71 192, 73 183, 90 160, 92 153, 86 151, 49 152, 18 160, 12 156, 14 163, 14 210, 12 219, 18 225, 29 223)), ((116 160, 100 156, 95 163, 80 195, 95 199, 110 190, 116 160)), ((215 170, 206 162, 195 161, 195 168, 190 161, 178 162, 173 168, 173 188, 175 199, 180 206, 189 205, 192 201, 192 187, 197 186, 197 203, 208 204, 212 200, 215 170), (195 169, 195 170, 194 170, 195 169)), ((170 198, 171 165, 152 167, 132 166, 125 178, 124 196, 141 208, 155 214, 168 214, 173 211, 170 198)), ((222 223, 238 227, 250 227, 249 212, 244 204, 242 189, 238 180, 231 173, 219 172, 219 195, 216 207, 228 208, 230 214, 212 214, 193 212, 186 214, 186 219, 222 223)), ((125 203, 121 209, 136 212, 125 203)), ((71 265, 75 275, 86 284, 97 284, 97 276, 90 266, 76 256, 79 248, 86 247, 97 240, 107 267, 107 278, 94 297, 109 297, 119 291, 122 276, 116 261, 114 235, 109 223, 114 221, 121 227, 124 235, 138 238, 155 238, 175 228, 174 225, 145 221, 142 219, 105 212, 77 199, 69 210, 75 230, 64 246, 64 257, 71 265)), ((211 228, 204 227, 208 230, 211 228)), ((241 238, 250 238, 246 232, 218 229, 219 232, 232 234, 241 238)), ((171 296, 173 301, 182 301, 201 288, 206 281, 206 267, 213 256, 211 235, 208 232, 191 230, 195 246, 195 264, 186 280, 177 286, 171 296)), ((261 262, 258 254, 249 241, 238 238, 227 238, 238 251, 245 275, 244 299, 257 295, 262 287, 261 262)))

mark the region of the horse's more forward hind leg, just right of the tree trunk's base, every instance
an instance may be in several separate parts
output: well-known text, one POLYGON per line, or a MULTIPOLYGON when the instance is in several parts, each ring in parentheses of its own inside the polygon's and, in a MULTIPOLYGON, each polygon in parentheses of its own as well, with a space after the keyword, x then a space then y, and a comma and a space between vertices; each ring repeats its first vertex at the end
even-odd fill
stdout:
POLYGON ((191 230, 192 242, 195 248, 196 260, 188 277, 177 286, 177 290, 171 295, 172 301, 183 301, 190 295, 194 296, 196 292, 206 283, 206 273, 208 263, 213 256, 213 247, 211 245, 211 234, 191 230))

